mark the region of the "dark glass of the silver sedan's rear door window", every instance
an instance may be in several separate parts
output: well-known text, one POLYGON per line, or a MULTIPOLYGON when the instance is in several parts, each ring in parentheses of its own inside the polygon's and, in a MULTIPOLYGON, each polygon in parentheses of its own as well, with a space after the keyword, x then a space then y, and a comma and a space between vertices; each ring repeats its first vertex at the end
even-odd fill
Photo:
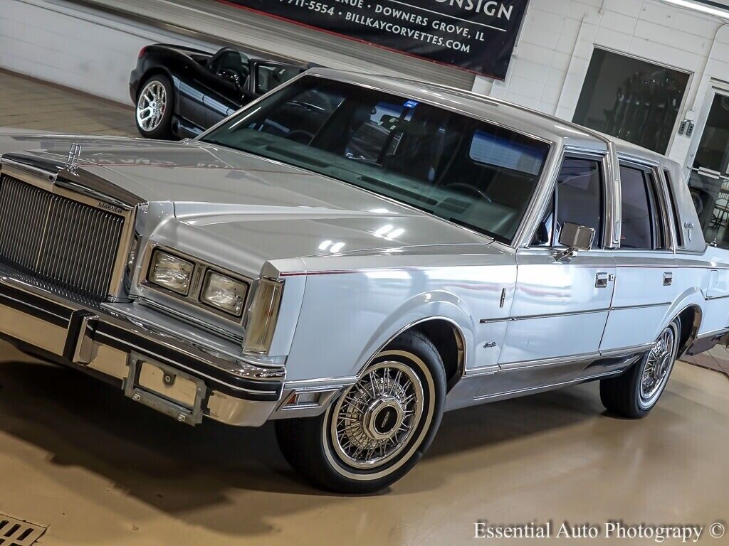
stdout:
POLYGON ((651 173, 620 165, 620 248, 665 248, 655 180, 651 173))

